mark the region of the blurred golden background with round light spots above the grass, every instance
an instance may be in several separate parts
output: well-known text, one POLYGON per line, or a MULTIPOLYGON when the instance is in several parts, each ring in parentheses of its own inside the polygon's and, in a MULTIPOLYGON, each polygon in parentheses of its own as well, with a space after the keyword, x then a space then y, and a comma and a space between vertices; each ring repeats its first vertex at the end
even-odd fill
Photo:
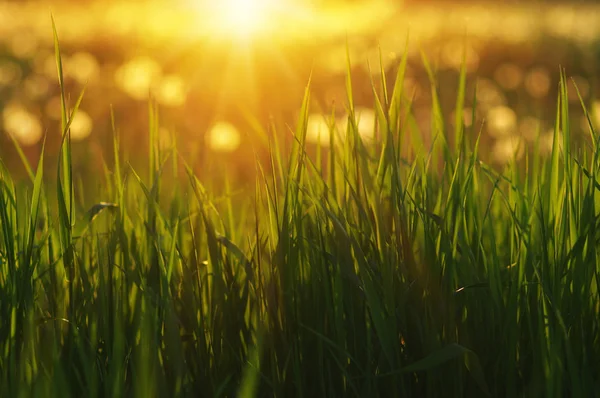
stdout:
POLYGON ((592 121, 600 117, 595 1, 5 0, 0 1, 5 163, 18 166, 11 136, 37 159, 47 135, 48 164, 54 167, 60 97, 51 14, 71 105, 85 88, 71 126, 82 172, 102 170, 102 162, 111 161, 111 109, 124 152, 132 162, 136 154, 145 156, 153 98, 164 147, 176 141, 189 159, 219 159, 243 177, 254 169, 255 153, 266 150, 258 126, 272 124, 290 135, 286 126, 295 125, 311 71, 308 134, 311 145, 326 144, 332 120, 344 131, 346 48, 359 129, 367 141, 374 134, 370 76, 381 88, 385 71, 391 87, 405 51, 411 128, 426 142, 431 86, 422 53, 436 72, 449 131, 465 60, 463 122, 473 134, 482 131, 490 162, 522 157, 536 141, 543 152, 551 149, 559 67, 569 78, 573 133, 588 134, 575 86, 592 121))

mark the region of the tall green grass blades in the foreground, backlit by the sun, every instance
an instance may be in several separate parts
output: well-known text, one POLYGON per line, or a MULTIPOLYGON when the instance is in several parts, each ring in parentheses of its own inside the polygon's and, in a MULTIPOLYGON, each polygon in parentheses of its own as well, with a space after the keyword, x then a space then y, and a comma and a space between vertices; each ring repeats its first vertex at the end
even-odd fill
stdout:
MULTIPOLYGON (((381 144, 357 132, 348 74, 347 139, 316 159, 307 87, 293 145, 263 137, 243 198, 160 149, 152 104, 148 169, 122 161, 114 128, 114 162, 81 184, 103 194, 82 198, 81 97, 63 90, 57 173, 43 154, 22 156, 30 181, 0 167, 0 394, 598 396, 600 149, 591 122, 570 145, 564 73, 552 156, 497 172, 476 131, 456 123, 451 145, 427 63, 424 146, 405 67, 373 82, 381 144)), ((457 115, 464 98, 463 71, 457 115)))

